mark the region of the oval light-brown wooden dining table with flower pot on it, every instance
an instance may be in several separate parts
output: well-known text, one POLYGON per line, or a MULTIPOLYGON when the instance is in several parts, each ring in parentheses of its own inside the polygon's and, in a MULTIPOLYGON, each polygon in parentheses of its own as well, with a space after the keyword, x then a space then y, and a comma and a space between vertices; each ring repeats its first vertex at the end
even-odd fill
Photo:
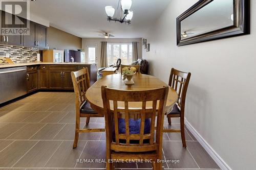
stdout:
MULTIPOLYGON (((133 77, 133 81, 135 84, 133 85, 125 85, 125 81, 122 80, 121 74, 113 74, 100 78, 96 81, 86 92, 86 98, 88 102, 91 104, 92 109, 94 109, 97 113, 103 114, 103 102, 101 98, 101 86, 106 86, 108 88, 113 88, 117 90, 152 90, 161 88, 163 86, 168 86, 163 81, 158 78, 150 75, 143 75, 140 73, 136 73, 133 77)), ((169 86, 169 92, 165 107, 165 113, 172 111, 174 104, 178 100, 178 93, 169 86)), ((119 107, 124 108, 124 103, 120 102, 118 104, 119 107)), ((110 107, 113 108, 113 105, 110 104, 110 107)), ((152 102, 146 103, 146 108, 151 108, 152 102)), ((141 108, 141 104, 138 102, 129 102, 130 109, 138 109, 141 108)), ((157 107, 158 108, 158 107, 157 107)))

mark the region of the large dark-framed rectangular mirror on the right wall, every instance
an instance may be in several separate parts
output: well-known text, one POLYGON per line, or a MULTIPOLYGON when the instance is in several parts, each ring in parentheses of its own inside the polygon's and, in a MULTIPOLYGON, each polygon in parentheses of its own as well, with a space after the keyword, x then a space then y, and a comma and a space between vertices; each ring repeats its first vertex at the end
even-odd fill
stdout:
POLYGON ((177 45, 250 33, 250 0, 200 0, 177 17, 177 45))

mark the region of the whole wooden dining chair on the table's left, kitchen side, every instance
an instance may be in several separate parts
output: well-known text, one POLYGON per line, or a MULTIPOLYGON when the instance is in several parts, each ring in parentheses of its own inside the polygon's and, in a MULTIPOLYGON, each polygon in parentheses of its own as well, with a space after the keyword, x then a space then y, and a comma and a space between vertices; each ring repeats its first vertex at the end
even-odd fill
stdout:
POLYGON ((86 91, 90 87, 90 77, 87 68, 71 72, 75 91, 75 108, 76 108, 76 127, 75 139, 73 148, 77 147, 77 142, 80 132, 104 132, 105 129, 80 129, 80 117, 86 117, 86 126, 89 124, 90 117, 103 117, 103 114, 98 114, 92 108, 90 103, 86 100, 86 91))

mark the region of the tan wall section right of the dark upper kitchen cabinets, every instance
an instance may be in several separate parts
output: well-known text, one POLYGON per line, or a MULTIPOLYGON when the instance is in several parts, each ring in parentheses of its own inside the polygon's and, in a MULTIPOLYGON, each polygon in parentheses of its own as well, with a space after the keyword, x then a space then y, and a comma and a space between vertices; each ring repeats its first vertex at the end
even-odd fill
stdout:
POLYGON ((82 38, 50 27, 48 28, 48 44, 50 49, 78 50, 82 48, 82 38))

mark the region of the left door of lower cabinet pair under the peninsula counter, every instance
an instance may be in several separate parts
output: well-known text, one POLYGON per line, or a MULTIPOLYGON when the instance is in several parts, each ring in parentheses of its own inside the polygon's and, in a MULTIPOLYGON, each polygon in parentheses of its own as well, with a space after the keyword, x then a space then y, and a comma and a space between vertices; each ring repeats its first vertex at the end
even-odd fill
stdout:
POLYGON ((62 70, 49 71, 49 89, 62 89, 62 70))

